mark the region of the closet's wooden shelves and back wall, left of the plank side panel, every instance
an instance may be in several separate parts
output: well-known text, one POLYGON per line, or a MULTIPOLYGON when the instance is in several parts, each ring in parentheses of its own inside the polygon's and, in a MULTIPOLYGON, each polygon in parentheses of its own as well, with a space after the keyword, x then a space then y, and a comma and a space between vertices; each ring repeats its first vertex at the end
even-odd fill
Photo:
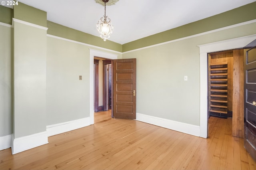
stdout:
POLYGON ((232 117, 233 50, 208 55, 209 115, 232 117))

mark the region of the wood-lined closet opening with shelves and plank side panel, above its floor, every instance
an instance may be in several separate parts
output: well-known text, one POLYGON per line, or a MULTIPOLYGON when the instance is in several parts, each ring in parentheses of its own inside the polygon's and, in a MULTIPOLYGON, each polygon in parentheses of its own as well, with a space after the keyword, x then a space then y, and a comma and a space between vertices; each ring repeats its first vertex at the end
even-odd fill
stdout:
POLYGON ((231 119, 231 134, 240 138, 244 136, 243 94, 244 49, 208 53, 208 118, 231 119))

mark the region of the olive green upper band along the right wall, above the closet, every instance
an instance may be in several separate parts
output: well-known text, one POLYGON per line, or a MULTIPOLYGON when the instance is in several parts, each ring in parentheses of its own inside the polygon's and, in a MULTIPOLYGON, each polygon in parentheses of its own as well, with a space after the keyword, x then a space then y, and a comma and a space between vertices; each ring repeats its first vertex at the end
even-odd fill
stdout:
POLYGON ((125 43, 122 46, 122 52, 168 42, 254 19, 256 19, 256 2, 165 32, 125 43))

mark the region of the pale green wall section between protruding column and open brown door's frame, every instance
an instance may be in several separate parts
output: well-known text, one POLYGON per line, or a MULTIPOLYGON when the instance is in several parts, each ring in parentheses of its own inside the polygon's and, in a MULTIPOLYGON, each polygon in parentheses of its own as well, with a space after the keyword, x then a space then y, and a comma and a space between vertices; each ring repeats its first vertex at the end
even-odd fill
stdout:
POLYGON ((47 125, 90 117, 89 59, 88 46, 47 37, 47 125))

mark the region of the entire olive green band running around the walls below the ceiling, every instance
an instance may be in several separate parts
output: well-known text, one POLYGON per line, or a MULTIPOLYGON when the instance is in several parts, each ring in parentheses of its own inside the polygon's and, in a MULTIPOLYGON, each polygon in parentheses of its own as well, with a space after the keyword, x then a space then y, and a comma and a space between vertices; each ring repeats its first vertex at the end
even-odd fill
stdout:
POLYGON ((200 34, 210 30, 231 26, 241 22, 256 19, 256 2, 235 8, 233 10, 205 18, 184 26, 173 28, 158 34, 154 34, 123 45, 107 40, 106 42, 98 36, 93 36, 66 26, 47 21, 47 14, 26 4, 19 2, 14 6, 14 10, 0 6, 0 22, 12 24, 12 18, 48 27, 47 33, 50 35, 67 38, 70 40, 111 49, 118 52, 126 52, 133 49, 147 47, 158 43, 168 42, 195 34, 200 34))

